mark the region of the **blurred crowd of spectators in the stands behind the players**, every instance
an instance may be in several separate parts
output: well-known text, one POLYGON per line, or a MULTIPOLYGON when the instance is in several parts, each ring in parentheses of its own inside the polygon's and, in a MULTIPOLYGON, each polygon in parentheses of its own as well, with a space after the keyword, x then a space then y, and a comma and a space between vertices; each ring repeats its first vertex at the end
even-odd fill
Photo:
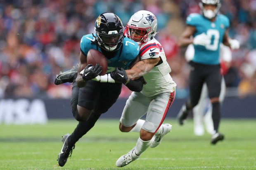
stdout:
MULTIPOLYGON (((80 39, 94 33, 96 18, 114 12, 125 26, 138 10, 156 15, 156 39, 163 45, 176 97, 188 92, 190 67, 176 41, 199 0, 0 0, 0 98, 70 98, 71 84, 56 86, 60 71, 79 61, 80 39)), ((220 0, 230 19, 229 35, 240 42, 224 69, 227 95, 256 95, 256 0, 220 0)), ((123 87, 120 97, 130 91, 123 87)))

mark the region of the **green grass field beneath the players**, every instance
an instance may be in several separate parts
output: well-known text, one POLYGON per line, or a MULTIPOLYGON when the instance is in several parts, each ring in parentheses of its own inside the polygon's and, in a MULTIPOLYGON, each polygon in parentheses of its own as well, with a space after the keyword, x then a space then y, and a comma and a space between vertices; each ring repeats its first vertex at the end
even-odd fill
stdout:
POLYGON ((192 120, 177 120, 162 143, 149 148, 123 168, 116 160, 135 146, 138 133, 121 133, 119 120, 100 119, 76 143, 71 159, 57 165, 61 136, 72 133, 75 119, 50 120, 46 125, 0 125, 0 170, 256 170, 256 119, 223 119, 225 140, 210 144, 211 136, 193 135, 192 120))

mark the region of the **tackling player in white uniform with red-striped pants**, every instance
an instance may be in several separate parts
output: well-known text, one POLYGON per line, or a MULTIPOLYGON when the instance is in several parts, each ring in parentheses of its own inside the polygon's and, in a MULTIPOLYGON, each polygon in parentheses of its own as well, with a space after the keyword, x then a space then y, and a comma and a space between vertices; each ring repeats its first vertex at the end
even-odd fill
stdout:
MULTIPOLYGON (((126 102, 120 119, 122 132, 139 132, 140 137, 128 154, 116 161, 123 167, 136 160, 148 147, 156 147, 171 131, 170 124, 162 124, 175 98, 176 84, 171 78, 171 68, 166 61, 164 49, 154 38, 157 20, 149 11, 138 11, 126 26, 126 36, 140 46, 141 61, 125 70, 126 79, 143 76, 147 84, 141 92, 133 92, 126 102), (146 120, 140 119, 147 114, 146 120)), ((113 77, 112 77, 113 78, 113 77)))

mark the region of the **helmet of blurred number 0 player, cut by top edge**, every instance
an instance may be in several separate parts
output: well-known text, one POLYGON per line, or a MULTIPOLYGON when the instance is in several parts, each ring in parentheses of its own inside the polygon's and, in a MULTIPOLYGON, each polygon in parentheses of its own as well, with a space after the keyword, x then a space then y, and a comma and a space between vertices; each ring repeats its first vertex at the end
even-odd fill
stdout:
POLYGON ((213 19, 219 12, 221 4, 220 0, 201 0, 201 2, 199 2, 199 6, 202 10, 203 15, 206 18, 213 19), (205 10, 204 5, 216 5, 216 9, 214 11, 212 11, 211 9, 205 10))

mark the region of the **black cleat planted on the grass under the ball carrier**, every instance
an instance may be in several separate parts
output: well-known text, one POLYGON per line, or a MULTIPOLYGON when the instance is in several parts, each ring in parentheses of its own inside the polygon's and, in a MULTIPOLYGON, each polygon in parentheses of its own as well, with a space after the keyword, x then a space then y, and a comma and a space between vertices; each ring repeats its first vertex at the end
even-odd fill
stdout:
POLYGON ((57 159, 57 161, 59 163, 59 166, 64 166, 65 165, 67 159, 69 157, 71 157, 73 149, 75 149, 75 145, 73 145, 72 147, 69 147, 69 145, 68 145, 69 136, 70 136, 69 133, 62 136, 63 137, 63 139, 62 139, 62 142, 63 142, 62 149, 60 150, 59 155, 58 155, 58 159, 57 159))

